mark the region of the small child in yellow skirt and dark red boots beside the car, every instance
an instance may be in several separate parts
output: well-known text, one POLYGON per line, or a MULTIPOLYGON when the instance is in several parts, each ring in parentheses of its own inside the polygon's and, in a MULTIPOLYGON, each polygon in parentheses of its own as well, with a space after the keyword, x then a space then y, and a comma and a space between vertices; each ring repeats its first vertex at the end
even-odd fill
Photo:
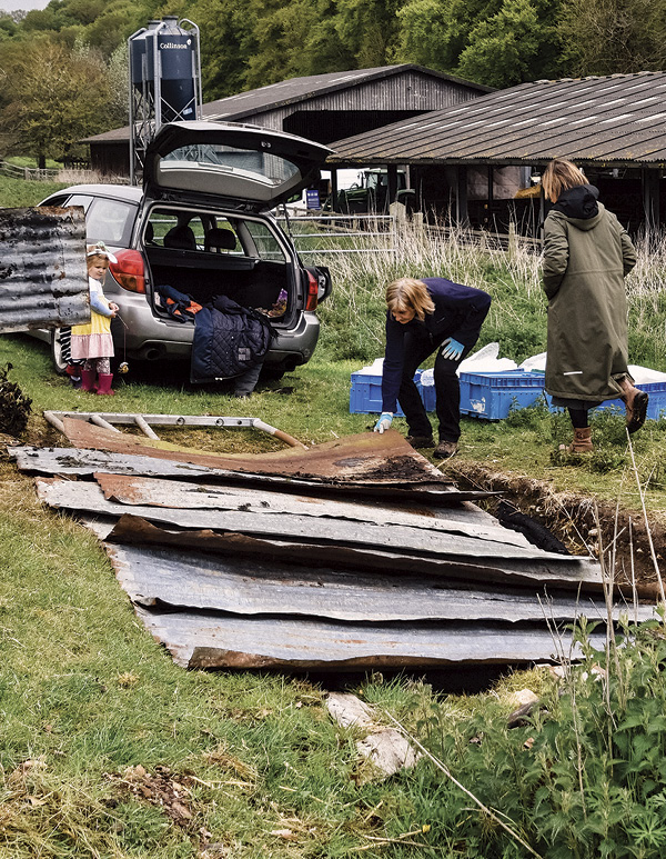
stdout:
POLYGON ((73 359, 83 359, 81 390, 112 394, 110 358, 113 357, 111 320, 118 313, 118 304, 109 301, 102 291, 109 262, 118 262, 102 241, 85 249, 88 287, 90 289, 90 322, 72 326, 71 352, 73 359), (97 377, 97 383, 95 383, 97 377))

